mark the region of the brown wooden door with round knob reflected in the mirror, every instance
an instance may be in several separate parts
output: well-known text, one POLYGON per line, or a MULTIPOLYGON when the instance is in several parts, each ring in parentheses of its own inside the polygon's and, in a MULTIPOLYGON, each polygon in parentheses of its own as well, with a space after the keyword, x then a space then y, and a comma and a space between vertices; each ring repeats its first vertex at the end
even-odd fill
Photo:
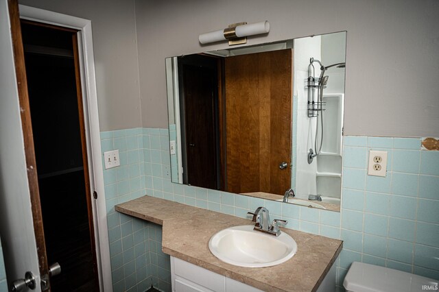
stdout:
POLYGON ((283 195, 291 185, 292 49, 225 61, 227 191, 283 195))

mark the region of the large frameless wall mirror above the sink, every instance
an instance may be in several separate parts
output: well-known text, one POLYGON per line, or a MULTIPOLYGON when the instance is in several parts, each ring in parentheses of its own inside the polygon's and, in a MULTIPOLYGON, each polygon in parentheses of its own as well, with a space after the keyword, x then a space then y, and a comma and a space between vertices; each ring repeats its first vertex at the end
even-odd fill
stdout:
POLYGON ((338 32, 167 58, 172 182, 340 210, 345 56, 338 32))

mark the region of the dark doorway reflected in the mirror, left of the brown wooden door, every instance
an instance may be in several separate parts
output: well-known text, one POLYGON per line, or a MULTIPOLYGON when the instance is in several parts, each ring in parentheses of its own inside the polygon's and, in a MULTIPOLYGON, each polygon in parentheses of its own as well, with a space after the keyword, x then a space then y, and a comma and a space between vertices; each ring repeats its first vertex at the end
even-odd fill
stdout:
POLYGON ((180 60, 185 123, 185 184, 218 188, 217 60, 180 60))

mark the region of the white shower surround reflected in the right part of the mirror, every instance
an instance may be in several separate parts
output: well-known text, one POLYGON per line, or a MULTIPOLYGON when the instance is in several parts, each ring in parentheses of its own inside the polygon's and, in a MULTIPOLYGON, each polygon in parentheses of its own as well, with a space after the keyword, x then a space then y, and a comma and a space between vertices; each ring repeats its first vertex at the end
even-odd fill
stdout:
MULTIPOLYGON (((342 113, 344 106, 344 69, 331 69, 327 72, 329 82, 324 90, 324 97, 327 96, 328 110, 323 115, 325 130, 327 130, 324 133, 324 141, 327 143, 324 143, 322 147, 323 155, 314 158, 311 164, 308 163, 307 157, 309 149, 314 149, 318 119, 307 117, 308 89, 305 87, 311 57, 317 60, 322 60, 325 57, 330 64, 333 64, 335 60, 337 62, 344 61, 345 42, 340 42, 340 36, 342 35, 338 34, 334 39, 331 39, 331 35, 327 35, 294 40, 294 95, 297 98, 297 106, 294 109, 297 115, 297 123, 294 127, 297 136, 295 145, 295 155, 297 156, 295 189, 296 196, 301 199, 308 199, 308 195, 316 194, 340 199, 341 195, 341 127, 343 125, 342 113), (340 42, 340 44, 337 42, 340 42), (322 49, 325 43, 329 44, 330 49, 327 51, 324 51, 324 48, 322 49), (340 59, 338 55, 342 56, 343 59, 340 59), (325 114, 330 114, 330 116, 325 116, 325 114), (330 146, 327 147, 328 145, 330 146), (324 175, 323 173, 332 173, 332 175, 324 175)), ((322 60, 322 62, 325 61, 322 60)), ((318 77, 320 75, 320 66, 315 63, 314 68, 314 76, 318 77)), ((317 92, 315 92, 316 96, 317 92)), ((314 150, 316 151, 316 149, 314 150)))

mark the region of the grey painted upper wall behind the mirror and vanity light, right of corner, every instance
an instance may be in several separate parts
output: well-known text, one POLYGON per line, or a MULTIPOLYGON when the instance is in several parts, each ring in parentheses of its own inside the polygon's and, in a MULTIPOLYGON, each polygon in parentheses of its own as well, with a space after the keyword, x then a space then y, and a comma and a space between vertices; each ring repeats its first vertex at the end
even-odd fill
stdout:
POLYGON ((165 58, 224 49, 198 35, 270 21, 247 45, 347 31, 346 135, 439 136, 437 0, 136 0, 144 127, 167 127, 165 58))

